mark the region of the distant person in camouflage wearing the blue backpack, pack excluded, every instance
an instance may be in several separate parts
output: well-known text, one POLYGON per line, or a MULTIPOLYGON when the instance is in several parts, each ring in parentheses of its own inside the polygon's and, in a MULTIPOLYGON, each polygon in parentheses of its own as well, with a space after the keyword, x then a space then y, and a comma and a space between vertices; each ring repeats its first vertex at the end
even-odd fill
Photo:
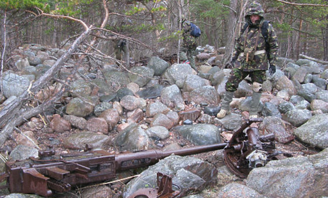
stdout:
POLYGON ((182 21, 182 52, 180 53, 180 59, 182 63, 188 63, 192 68, 196 68, 195 65, 195 49, 197 48, 196 38, 190 35, 191 28, 190 22, 187 20, 182 21))

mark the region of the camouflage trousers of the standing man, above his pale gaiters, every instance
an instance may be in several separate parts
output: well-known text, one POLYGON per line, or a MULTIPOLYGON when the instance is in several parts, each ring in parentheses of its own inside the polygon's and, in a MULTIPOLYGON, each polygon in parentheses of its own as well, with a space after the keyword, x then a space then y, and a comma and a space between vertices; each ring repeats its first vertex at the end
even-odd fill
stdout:
MULTIPOLYGON (((234 92, 237 90, 238 85, 246 76, 249 75, 251 82, 258 82, 262 84, 265 80, 265 70, 255 70, 255 71, 242 71, 237 68, 233 68, 230 73, 230 77, 226 83, 226 91, 234 92)), ((260 91, 261 92, 261 91, 260 91)))

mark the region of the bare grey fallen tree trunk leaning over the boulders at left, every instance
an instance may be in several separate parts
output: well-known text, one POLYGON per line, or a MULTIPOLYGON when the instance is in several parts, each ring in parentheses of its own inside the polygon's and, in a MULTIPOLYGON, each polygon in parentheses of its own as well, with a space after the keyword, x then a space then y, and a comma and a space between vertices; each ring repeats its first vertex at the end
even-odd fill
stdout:
MULTIPOLYGON (((32 109, 31 111, 24 112, 23 109, 21 109, 22 105, 26 103, 29 99, 29 93, 37 93, 40 91, 56 74, 64 62, 72 55, 72 53, 80 46, 80 44, 85 40, 85 38, 90 35, 91 29, 87 29, 85 32, 83 32, 79 38, 77 38, 71 48, 64 53, 57 61, 56 63, 41 77, 39 80, 37 80, 33 85, 31 86, 30 90, 26 90, 23 94, 21 94, 17 99, 13 100, 9 104, 7 104, 1 111, 0 111, 0 126, 3 126, 1 132, 0 132, 0 145, 3 145, 3 143, 6 141, 6 139, 11 134, 13 128, 21 124, 22 119, 29 119, 32 116, 35 116, 39 114, 40 112, 44 111, 47 107, 49 107, 51 104, 50 102, 46 102, 43 105, 39 105, 38 107, 35 107, 35 109, 32 109), (26 117, 24 117, 26 116, 26 117)), ((55 98, 53 98, 55 99, 55 98)))

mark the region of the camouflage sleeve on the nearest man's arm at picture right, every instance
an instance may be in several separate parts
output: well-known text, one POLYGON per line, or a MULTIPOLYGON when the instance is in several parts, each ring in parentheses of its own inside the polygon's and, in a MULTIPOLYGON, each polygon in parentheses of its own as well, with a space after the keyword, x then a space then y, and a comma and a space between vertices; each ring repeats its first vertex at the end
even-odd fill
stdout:
POLYGON ((278 39, 277 35, 273 30, 272 25, 269 23, 268 25, 268 60, 270 64, 275 64, 278 57, 278 39))

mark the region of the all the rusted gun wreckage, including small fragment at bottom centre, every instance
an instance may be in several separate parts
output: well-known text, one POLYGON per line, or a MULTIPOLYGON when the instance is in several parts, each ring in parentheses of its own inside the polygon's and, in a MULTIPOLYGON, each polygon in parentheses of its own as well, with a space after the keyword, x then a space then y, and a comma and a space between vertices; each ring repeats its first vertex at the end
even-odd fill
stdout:
MULTIPOLYGON (((110 154, 104 150, 87 151, 75 159, 61 155, 54 159, 54 151, 40 151, 39 158, 30 157, 23 161, 8 161, 0 181, 6 179, 10 193, 37 194, 49 197, 54 193, 64 193, 76 185, 101 182, 115 178, 116 172, 145 167, 157 163, 171 154, 185 156, 224 149, 224 162, 237 176, 246 178, 253 168, 264 166, 272 159, 273 134, 259 136, 257 128, 250 127, 246 121, 232 136, 229 143, 180 148, 172 151, 147 150, 134 153, 110 154)), ((72 157, 72 156, 71 156, 72 157)), ((171 188, 170 176, 159 173, 158 189, 144 189, 130 198, 143 195, 145 198, 173 198, 178 192, 171 188), (146 193, 145 193, 146 192, 146 193), (152 192, 147 194, 147 192, 152 192)), ((140 196, 139 196, 140 197, 140 196)))

